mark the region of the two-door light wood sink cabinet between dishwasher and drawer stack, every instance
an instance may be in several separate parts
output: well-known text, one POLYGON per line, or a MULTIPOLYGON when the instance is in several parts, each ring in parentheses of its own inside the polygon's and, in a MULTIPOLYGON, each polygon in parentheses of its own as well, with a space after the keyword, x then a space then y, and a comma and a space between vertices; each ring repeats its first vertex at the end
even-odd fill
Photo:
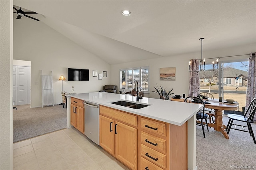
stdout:
POLYGON ((100 146, 137 170, 137 116, 100 106, 100 146))

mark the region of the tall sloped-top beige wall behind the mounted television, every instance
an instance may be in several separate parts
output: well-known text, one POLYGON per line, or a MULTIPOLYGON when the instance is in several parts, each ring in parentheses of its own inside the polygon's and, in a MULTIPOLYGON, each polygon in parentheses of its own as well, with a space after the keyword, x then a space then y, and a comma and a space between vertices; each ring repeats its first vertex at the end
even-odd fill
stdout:
POLYGON ((96 55, 86 51, 70 39, 62 36, 46 24, 30 18, 14 18, 13 58, 31 61, 31 107, 42 106, 42 87, 40 70, 43 74, 53 71, 54 103, 62 103, 61 75, 67 79, 68 68, 89 69, 89 81, 63 81, 63 91, 87 93, 100 91, 110 83, 110 65, 96 55), (107 71, 108 77, 98 80, 92 77, 92 71, 107 71))

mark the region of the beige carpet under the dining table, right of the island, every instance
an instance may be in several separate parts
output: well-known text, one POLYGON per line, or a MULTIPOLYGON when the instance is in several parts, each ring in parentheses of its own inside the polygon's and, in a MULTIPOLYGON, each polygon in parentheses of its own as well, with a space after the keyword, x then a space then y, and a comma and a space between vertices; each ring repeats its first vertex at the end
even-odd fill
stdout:
MULTIPOLYGON (((227 125, 228 120, 228 117, 224 115, 223 124, 227 125)), ((255 135, 256 123, 252 124, 252 129, 255 135)), ((231 129, 229 139, 226 139, 221 132, 214 128, 209 128, 209 132, 207 132, 205 127, 206 138, 203 136, 202 127, 196 126, 196 132, 198 170, 244 170, 249 169, 246 166, 250 165, 256 169, 256 144, 248 132, 231 129), (236 168, 234 168, 235 166, 236 168)))

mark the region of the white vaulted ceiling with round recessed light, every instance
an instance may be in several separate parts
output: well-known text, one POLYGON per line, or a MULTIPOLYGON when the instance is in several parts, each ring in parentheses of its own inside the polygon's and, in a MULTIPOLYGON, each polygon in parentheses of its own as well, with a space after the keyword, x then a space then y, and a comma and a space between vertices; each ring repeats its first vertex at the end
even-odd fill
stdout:
MULTIPOLYGON (((255 0, 14 0, 13 4, 37 12, 28 15, 110 64, 199 52, 199 38, 205 38, 204 50, 256 43, 255 0), (131 15, 123 16, 122 10, 131 15)), ((37 22, 24 16, 21 20, 37 22)))

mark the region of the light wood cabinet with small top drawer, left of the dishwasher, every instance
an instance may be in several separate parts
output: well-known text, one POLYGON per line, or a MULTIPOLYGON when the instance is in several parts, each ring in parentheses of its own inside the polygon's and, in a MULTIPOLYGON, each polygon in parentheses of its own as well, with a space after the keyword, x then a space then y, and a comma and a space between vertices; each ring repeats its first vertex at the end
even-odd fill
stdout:
POLYGON ((71 97, 70 124, 84 134, 84 102, 71 97))

